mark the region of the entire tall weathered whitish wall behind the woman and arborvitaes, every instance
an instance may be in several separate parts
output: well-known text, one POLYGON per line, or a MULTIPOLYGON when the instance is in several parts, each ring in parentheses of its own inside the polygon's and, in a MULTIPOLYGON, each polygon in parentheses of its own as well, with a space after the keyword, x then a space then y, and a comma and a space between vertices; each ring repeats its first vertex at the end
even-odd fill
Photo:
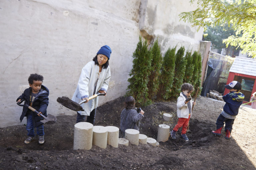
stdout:
POLYGON ((163 53, 177 43, 198 50, 202 31, 178 18, 193 8, 189 0, 0 1, 0 127, 26 122, 19 123, 16 99, 31 73, 42 74, 50 90, 48 113, 76 114, 56 99, 72 97, 82 67, 102 45, 112 49, 112 76, 100 105, 125 94, 140 35, 151 43, 158 37, 163 53))

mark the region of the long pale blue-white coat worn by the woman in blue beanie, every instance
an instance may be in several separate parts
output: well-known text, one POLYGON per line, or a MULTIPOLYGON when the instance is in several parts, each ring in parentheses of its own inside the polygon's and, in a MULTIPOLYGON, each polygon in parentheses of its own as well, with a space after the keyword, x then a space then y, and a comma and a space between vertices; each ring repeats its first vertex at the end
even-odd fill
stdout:
MULTIPOLYGON (((74 102, 81 102, 82 96, 88 95, 89 97, 93 95, 93 91, 95 88, 95 83, 98 79, 98 73, 99 73, 100 67, 95 64, 94 61, 88 62, 83 68, 81 75, 78 80, 76 91, 72 97, 72 100, 74 102)), ((96 91, 95 94, 98 93, 98 91, 101 88, 108 89, 108 82, 111 77, 110 73, 110 67, 108 66, 106 69, 102 68, 101 74, 99 76, 97 85, 96 85, 96 91)), ((89 100, 88 103, 81 104, 84 111, 78 111, 80 115, 86 115, 89 116, 91 111, 93 109, 96 109, 98 106, 98 97, 89 100)))

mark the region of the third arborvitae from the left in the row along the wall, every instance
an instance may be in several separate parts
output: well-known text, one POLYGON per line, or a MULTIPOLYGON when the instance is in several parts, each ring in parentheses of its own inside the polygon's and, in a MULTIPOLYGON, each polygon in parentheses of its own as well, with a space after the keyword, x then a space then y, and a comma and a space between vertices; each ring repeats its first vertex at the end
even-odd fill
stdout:
POLYGON ((163 64, 161 67, 161 74, 159 76, 159 90, 157 94, 158 99, 168 99, 170 97, 171 88, 174 78, 175 69, 175 51, 176 47, 168 48, 166 51, 163 64))

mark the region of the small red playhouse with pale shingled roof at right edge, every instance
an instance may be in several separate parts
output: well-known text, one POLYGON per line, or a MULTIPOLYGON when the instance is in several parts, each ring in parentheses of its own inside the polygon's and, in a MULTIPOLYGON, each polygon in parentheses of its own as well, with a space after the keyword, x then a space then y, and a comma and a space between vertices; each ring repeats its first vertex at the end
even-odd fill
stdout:
MULTIPOLYGON (((236 57, 230 67, 227 84, 233 80, 242 84, 240 92, 245 95, 244 103, 249 102, 252 93, 256 91, 256 59, 236 57)), ((229 93, 229 90, 225 89, 224 95, 227 93, 229 93)))

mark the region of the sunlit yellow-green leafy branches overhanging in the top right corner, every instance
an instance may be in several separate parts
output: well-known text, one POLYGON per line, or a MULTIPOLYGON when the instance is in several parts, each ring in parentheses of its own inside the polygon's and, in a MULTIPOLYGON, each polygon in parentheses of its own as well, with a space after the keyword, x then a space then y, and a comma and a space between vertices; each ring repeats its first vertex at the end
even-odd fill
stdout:
MULTIPOLYGON (((194 3, 195 0, 191 0, 194 3)), ((198 0, 197 9, 183 12, 179 16, 181 20, 192 23, 192 26, 206 28, 206 26, 223 26, 228 24, 237 30, 223 42, 226 46, 238 46, 243 53, 256 57, 256 0, 198 0), (242 36, 240 36, 242 34, 242 36)))

